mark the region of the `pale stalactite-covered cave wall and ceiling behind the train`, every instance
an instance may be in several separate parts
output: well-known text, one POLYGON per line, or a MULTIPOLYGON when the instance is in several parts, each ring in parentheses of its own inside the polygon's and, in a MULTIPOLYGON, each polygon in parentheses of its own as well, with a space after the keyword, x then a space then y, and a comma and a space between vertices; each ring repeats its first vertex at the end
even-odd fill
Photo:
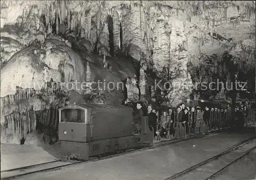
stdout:
MULTIPOLYGON (((67 99, 75 93, 91 97, 92 89, 92 99, 97 99, 93 102, 122 99, 123 84, 116 86, 119 89, 105 86, 134 74, 139 74, 140 89, 127 84, 133 101, 139 92, 147 95, 144 79, 152 86, 150 78, 169 81, 167 97, 173 106, 192 92, 208 99, 219 92, 204 90, 198 82, 209 86, 220 79, 231 85, 236 73, 255 81, 254 60, 253 1, 3 0, 1 132, 11 134, 9 142, 13 137, 26 139, 40 122, 56 133, 53 117, 67 99), (82 82, 97 81, 103 83, 82 91, 82 82), (12 122, 23 130, 10 130, 12 122)), ((149 95, 159 93, 154 85, 151 89, 149 95)))

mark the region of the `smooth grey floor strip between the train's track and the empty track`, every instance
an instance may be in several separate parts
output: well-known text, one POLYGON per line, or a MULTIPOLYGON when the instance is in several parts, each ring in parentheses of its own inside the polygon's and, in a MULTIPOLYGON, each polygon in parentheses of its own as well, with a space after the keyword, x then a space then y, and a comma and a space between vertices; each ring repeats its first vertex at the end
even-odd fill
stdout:
MULTIPOLYGON (((38 172, 18 179, 165 179, 253 136, 255 127, 247 127, 240 132, 212 133, 199 139, 127 153, 96 162, 84 162, 54 171, 38 172)), ((36 152, 32 154, 35 156, 36 152)), ((41 159, 39 154, 41 157, 44 156, 41 155, 43 153, 38 153, 38 159, 41 159)), ((45 157, 50 159, 50 155, 45 157)), ((17 161, 15 158, 12 160, 17 161)))

